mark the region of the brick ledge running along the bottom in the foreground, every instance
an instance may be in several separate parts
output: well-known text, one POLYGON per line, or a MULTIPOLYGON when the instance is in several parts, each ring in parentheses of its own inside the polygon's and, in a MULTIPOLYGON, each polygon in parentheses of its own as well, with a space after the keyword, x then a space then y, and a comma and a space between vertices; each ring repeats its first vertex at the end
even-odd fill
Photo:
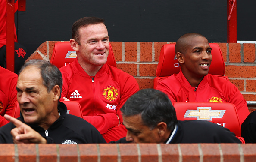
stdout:
POLYGON ((255 161, 256 144, 0 144, 2 162, 255 161))

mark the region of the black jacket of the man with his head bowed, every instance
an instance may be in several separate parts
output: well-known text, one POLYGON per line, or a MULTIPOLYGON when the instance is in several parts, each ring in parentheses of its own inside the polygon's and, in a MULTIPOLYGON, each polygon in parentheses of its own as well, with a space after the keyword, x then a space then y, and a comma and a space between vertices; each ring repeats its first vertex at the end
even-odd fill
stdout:
MULTIPOLYGON (((167 143, 169 138, 165 143, 167 143)), ((110 143, 129 142, 125 138, 121 138, 116 142, 110 143)), ((174 132, 174 136, 168 144, 181 143, 241 143, 241 141, 227 128, 209 121, 179 120, 177 130, 174 132)))

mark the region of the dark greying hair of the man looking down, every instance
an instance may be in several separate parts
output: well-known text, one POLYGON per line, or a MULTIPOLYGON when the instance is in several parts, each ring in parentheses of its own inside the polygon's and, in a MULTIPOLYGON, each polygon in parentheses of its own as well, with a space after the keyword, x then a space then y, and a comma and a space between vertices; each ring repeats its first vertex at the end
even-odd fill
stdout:
POLYGON ((141 115, 145 126, 154 129, 165 122, 172 131, 178 123, 176 112, 168 96, 155 89, 143 89, 132 95, 121 108, 123 116, 141 115))

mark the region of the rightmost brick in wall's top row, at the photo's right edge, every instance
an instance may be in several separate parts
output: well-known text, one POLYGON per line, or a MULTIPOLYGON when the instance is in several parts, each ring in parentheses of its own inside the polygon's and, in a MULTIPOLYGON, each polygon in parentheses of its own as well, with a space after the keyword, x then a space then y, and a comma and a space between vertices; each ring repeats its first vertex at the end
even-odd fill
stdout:
POLYGON ((255 61, 255 44, 244 43, 244 62, 253 63, 255 61))

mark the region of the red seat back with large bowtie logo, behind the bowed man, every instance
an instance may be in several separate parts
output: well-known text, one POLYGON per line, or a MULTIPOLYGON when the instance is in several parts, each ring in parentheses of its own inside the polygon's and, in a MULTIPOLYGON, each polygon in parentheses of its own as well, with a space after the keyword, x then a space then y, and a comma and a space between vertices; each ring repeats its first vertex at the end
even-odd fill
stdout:
POLYGON ((204 120, 228 128, 241 137, 236 107, 232 103, 174 102, 178 120, 204 120))

